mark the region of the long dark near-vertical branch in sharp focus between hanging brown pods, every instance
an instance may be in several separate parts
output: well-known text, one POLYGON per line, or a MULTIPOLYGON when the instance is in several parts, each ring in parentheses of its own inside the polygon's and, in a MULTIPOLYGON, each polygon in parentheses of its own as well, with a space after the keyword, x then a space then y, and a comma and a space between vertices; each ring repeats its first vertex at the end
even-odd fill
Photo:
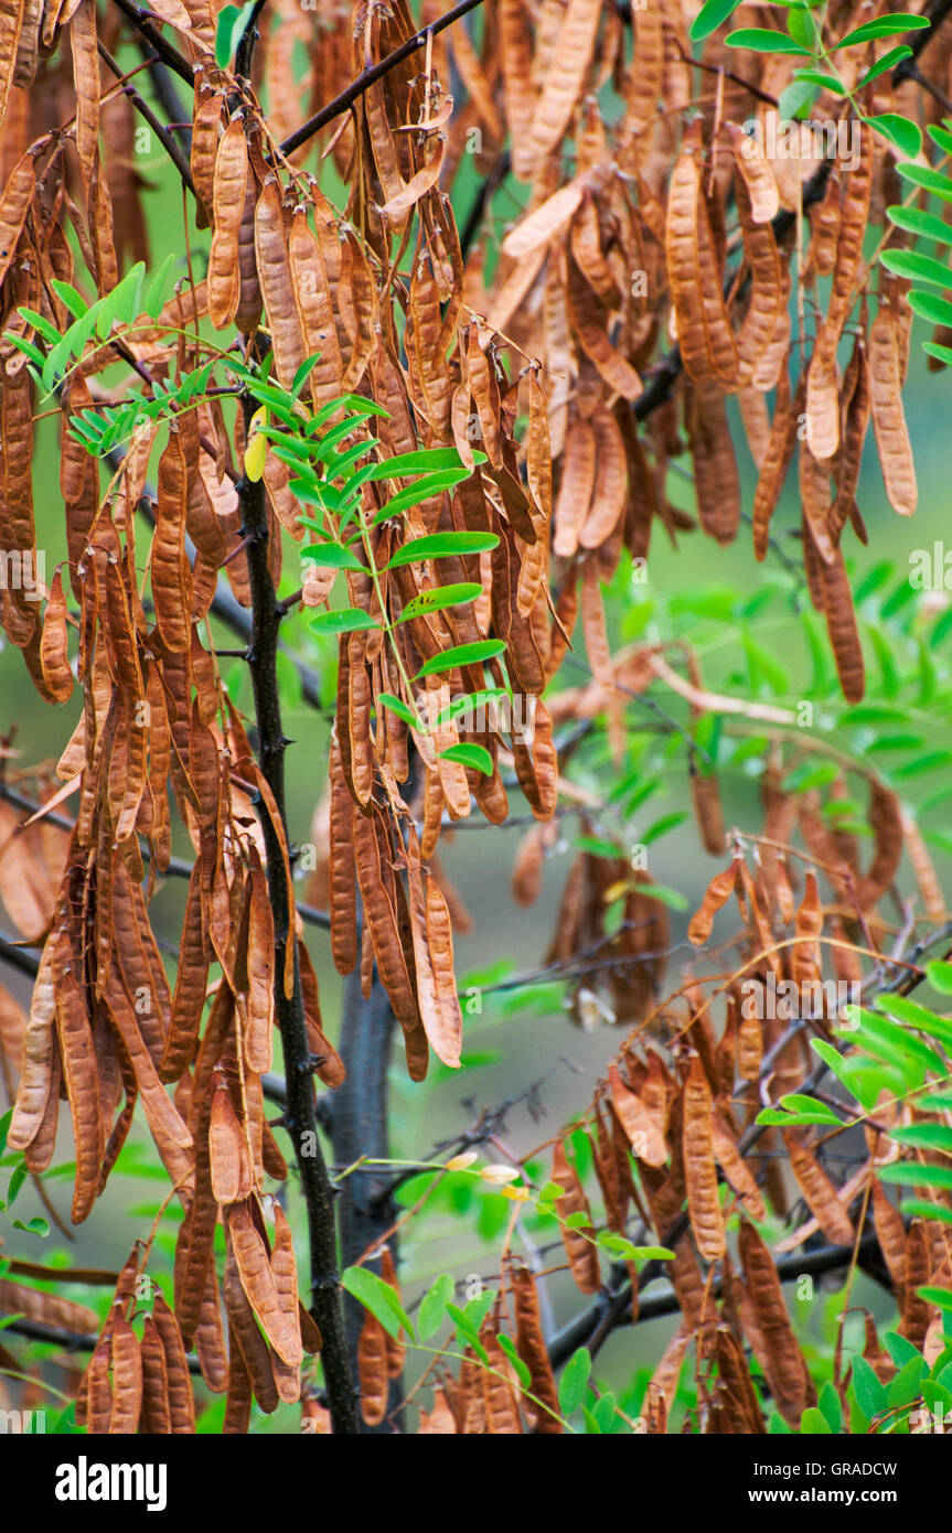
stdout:
MULTIPOLYGON (((250 434, 254 400, 242 399, 245 434, 250 434)), ((288 740, 281 724, 277 688, 277 632, 281 612, 268 564, 268 517, 264 483, 241 478, 238 494, 242 510, 242 533, 248 537, 248 578, 251 586, 251 642, 248 667, 254 693, 261 771, 268 783, 277 812, 285 823, 284 753, 288 740)), ((337 1274, 337 1233, 334 1220, 334 1188, 327 1171, 317 1121, 314 1116, 314 1079, 304 1016, 300 967, 293 946, 293 993, 284 987, 287 944, 294 944, 290 927, 290 889, 287 885, 281 843, 265 806, 259 806, 265 840, 268 891, 274 912, 274 1015, 281 1030, 287 1076, 285 1127, 294 1144, 297 1168, 308 1217, 311 1256, 311 1312, 323 1338, 322 1363, 327 1381, 331 1426, 336 1433, 356 1435, 357 1397, 346 1354, 340 1279, 337 1274)))

